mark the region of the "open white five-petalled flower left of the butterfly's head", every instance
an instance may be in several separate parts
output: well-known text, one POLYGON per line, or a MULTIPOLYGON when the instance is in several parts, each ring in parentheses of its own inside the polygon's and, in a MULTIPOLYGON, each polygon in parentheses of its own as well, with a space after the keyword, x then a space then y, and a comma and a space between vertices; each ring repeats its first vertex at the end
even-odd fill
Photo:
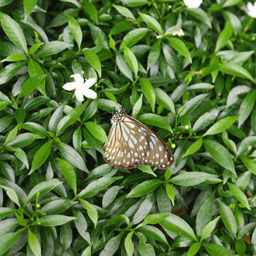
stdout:
POLYGON ((84 80, 80 74, 70 75, 70 78, 74 78, 75 82, 67 82, 65 85, 63 85, 63 88, 68 91, 75 90, 75 97, 78 99, 78 101, 82 102, 84 100, 84 95, 90 99, 97 98, 97 93, 89 89, 92 85, 95 84, 95 78, 84 80))

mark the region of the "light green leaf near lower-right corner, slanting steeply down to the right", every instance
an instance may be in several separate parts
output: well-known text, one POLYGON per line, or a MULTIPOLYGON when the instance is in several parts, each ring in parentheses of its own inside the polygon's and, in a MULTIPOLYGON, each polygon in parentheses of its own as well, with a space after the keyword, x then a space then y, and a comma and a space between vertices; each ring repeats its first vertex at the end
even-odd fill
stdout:
POLYGON ((235 222, 235 217, 233 215, 232 210, 228 208, 223 202, 218 200, 219 206, 220 206, 220 217, 223 221, 225 227, 233 233, 234 236, 236 236, 237 233, 237 224, 235 222))

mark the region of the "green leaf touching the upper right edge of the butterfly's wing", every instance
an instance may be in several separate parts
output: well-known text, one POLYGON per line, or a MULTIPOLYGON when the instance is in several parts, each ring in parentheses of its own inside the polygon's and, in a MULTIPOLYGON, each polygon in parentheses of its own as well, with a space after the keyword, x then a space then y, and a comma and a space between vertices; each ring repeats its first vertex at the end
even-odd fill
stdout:
POLYGON ((161 117, 158 114, 142 114, 137 118, 140 122, 144 122, 146 124, 155 125, 157 127, 161 127, 166 129, 169 132, 172 132, 171 126, 165 117, 161 117))

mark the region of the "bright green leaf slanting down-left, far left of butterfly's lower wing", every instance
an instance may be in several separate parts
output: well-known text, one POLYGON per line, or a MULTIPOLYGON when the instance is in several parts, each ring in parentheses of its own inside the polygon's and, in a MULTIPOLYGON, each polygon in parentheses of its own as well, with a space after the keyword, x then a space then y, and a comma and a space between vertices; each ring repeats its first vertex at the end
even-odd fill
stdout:
POLYGON ((36 154, 33 158, 31 171, 29 172, 29 174, 32 174, 33 171, 36 171, 36 169, 42 166, 43 163, 48 159, 52 146, 53 140, 51 139, 45 144, 43 144, 43 146, 41 146, 41 148, 38 149, 38 151, 36 151, 36 154))

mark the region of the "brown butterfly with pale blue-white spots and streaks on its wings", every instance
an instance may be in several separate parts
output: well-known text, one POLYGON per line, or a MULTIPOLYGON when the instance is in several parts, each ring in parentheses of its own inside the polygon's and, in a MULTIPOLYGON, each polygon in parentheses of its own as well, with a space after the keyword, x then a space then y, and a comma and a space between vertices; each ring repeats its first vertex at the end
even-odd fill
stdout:
POLYGON ((174 156, 158 134, 137 119, 125 114, 124 107, 112 116, 108 143, 103 147, 104 160, 122 169, 139 165, 166 169, 174 163, 174 156))

